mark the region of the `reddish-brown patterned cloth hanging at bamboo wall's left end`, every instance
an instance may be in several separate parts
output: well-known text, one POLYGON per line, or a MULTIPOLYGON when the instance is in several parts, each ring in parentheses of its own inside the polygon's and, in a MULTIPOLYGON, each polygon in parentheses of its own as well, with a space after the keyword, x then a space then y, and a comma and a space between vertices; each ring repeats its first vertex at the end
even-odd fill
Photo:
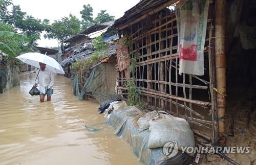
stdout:
POLYGON ((124 44, 126 38, 120 38, 116 43, 116 56, 117 56, 117 65, 119 71, 126 69, 130 65, 129 50, 124 44))

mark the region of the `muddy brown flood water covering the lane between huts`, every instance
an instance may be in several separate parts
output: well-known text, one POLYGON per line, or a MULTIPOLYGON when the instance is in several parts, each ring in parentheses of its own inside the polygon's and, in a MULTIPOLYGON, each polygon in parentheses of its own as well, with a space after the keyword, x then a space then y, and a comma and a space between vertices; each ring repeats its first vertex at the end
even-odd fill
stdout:
POLYGON ((0 164, 140 164, 132 148, 102 123, 98 104, 78 101, 69 79, 55 76, 51 102, 30 96, 35 74, 0 94, 0 164))

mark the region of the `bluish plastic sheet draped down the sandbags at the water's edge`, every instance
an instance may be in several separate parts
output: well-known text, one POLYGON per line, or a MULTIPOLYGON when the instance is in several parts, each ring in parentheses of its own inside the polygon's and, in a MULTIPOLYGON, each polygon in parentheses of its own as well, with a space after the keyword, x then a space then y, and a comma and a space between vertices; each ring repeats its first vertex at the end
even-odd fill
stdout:
POLYGON ((193 161, 193 157, 180 151, 176 156, 166 159, 162 147, 149 149, 151 132, 148 129, 140 132, 137 125, 138 119, 143 115, 136 107, 126 106, 114 110, 105 124, 110 125, 117 136, 132 146, 135 155, 144 164, 190 164, 193 161))

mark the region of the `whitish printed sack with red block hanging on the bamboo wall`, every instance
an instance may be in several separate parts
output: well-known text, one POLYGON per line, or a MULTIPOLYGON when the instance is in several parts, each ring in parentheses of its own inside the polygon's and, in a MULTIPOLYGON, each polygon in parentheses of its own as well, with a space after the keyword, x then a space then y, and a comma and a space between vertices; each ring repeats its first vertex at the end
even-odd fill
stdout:
POLYGON ((181 0, 176 6, 179 74, 204 75, 209 0, 181 0))

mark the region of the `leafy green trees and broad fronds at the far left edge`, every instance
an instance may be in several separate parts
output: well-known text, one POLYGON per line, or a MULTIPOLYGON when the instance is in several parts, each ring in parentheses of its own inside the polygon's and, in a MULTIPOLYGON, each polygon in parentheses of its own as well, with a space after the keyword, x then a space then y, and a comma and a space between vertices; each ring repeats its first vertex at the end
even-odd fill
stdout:
POLYGON ((9 65, 16 65, 16 56, 34 51, 36 40, 49 28, 49 20, 35 19, 11 0, 0 1, 0 53, 9 65), (8 10, 10 9, 10 10, 8 10))

